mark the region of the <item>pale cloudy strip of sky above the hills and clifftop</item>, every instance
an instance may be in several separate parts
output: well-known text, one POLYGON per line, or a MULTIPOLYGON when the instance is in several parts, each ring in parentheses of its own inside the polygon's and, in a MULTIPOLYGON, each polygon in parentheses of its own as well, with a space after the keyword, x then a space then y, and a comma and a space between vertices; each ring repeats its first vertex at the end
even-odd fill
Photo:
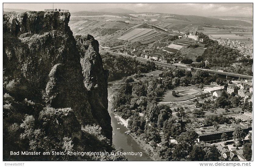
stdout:
POLYGON ((54 5, 54 9, 68 9, 69 12, 123 8, 135 12, 253 17, 252 3, 3 3, 3 8, 42 11, 52 9, 52 5, 54 5))

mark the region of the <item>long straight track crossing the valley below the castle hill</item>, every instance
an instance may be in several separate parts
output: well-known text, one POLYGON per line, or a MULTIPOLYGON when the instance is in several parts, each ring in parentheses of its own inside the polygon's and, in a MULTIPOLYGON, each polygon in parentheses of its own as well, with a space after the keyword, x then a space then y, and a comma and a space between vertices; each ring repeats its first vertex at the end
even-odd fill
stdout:
MULTIPOLYGON (((106 50, 99 50, 99 53, 111 53, 113 55, 116 56, 126 56, 126 57, 134 57, 131 55, 125 55, 123 53, 115 53, 115 52, 110 52, 110 51, 106 51, 106 50)), ((136 60, 141 61, 141 62, 147 62, 147 61, 151 61, 150 59, 145 59, 145 58, 141 58, 141 57, 136 57, 136 60)), ((155 62, 155 61, 154 61, 155 62)), ((187 68, 186 65, 182 65, 179 63, 175 63, 175 64, 167 64, 167 63, 162 63, 162 62, 155 62, 157 65, 162 65, 162 66, 179 66, 181 68, 187 68)), ((237 74, 237 73, 229 73, 229 72, 221 72, 221 71, 216 71, 216 70, 209 70, 209 69, 204 69, 204 68, 195 68, 194 70, 204 70, 204 71, 208 71, 209 73, 217 73, 217 74, 221 74, 221 75, 228 75, 228 76, 233 76, 233 77, 241 77, 241 78, 246 78, 246 79, 252 79, 252 76, 250 75, 243 75, 243 74, 237 74)))

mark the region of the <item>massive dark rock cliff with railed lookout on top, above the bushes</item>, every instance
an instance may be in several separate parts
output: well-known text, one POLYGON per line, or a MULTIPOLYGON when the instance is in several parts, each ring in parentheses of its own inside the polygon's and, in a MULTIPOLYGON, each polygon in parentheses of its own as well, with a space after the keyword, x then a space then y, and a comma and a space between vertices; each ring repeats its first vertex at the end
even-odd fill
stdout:
POLYGON ((70 107, 82 126, 99 124, 112 141, 108 73, 98 42, 88 36, 76 44, 69 17, 63 12, 4 12, 4 76, 7 82, 19 80, 16 100, 70 107))

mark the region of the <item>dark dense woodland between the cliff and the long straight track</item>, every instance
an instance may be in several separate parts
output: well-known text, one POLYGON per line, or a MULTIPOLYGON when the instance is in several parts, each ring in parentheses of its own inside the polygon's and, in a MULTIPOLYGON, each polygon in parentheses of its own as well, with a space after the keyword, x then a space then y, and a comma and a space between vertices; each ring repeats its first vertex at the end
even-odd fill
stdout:
POLYGON ((109 53, 101 54, 103 67, 108 70, 108 81, 118 80, 135 73, 148 73, 155 70, 155 63, 147 61, 141 63, 135 58, 125 56, 114 56, 109 53))

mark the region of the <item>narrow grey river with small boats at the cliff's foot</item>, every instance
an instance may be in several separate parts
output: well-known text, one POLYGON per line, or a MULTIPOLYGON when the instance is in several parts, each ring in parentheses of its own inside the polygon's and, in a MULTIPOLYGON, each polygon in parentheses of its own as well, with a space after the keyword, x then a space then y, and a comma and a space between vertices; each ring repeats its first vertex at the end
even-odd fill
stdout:
MULTIPOLYGON (((113 93, 111 86, 115 81, 108 83, 108 100, 113 93)), ((126 135, 124 132, 127 131, 127 128, 124 125, 118 124, 118 121, 114 117, 114 113, 111 111, 112 104, 108 102, 108 113, 111 117, 111 126, 113 128, 113 144, 115 148, 118 149, 119 147, 123 148, 123 152, 142 152, 142 156, 140 155, 125 155, 128 161, 151 161, 148 158, 147 154, 143 152, 142 149, 139 148, 136 141, 130 135, 126 135), (120 128, 120 129, 117 129, 120 128)))

